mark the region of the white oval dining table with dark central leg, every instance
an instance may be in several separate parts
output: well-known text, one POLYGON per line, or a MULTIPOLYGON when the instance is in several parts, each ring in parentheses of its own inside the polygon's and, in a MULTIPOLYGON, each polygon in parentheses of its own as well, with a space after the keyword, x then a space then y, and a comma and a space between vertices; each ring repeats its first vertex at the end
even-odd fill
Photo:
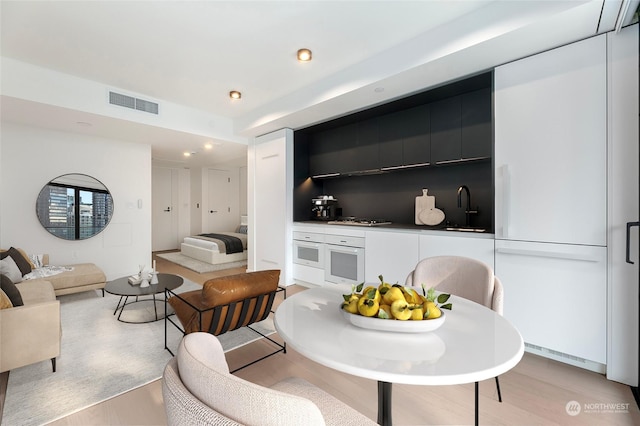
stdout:
MULTIPOLYGON (((341 312, 346 287, 316 287, 287 297, 275 327, 287 345, 321 365, 378 381, 378 424, 391 425, 393 383, 440 386, 503 374, 522 359, 524 342, 504 317, 456 296, 442 326, 403 333, 360 328, 341 312)), ((380 320, 395 321, 395 320, 380 320)))

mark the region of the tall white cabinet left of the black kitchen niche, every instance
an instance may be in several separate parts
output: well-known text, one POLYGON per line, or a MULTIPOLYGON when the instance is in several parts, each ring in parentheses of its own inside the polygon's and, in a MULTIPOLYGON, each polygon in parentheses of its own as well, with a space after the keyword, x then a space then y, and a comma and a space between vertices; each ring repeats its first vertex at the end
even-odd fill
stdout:
POLYGON ((255 138, 247 155, 249 271, 280 269, 292 283, 293 130, 255 138))

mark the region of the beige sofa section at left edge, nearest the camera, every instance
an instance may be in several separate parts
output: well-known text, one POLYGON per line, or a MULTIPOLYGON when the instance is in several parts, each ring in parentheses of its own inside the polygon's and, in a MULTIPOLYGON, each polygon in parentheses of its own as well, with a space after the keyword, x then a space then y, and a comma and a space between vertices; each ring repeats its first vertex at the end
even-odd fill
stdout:
POLYGON ((56 371, 62 330, 53 286, 33 280, 16 288, 24 305, 0 309, 0 373, 47 359, 56 371))

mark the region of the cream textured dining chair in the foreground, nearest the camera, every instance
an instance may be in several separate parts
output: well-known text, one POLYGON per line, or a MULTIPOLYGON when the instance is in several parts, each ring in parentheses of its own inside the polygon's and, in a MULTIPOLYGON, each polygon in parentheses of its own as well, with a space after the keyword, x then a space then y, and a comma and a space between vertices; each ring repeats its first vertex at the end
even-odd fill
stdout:
POLYGON ((210 333, 184 336, 162 376, 169 425, 375 425, 300 378, 263 387, 229 373, 220 341, 210 333))

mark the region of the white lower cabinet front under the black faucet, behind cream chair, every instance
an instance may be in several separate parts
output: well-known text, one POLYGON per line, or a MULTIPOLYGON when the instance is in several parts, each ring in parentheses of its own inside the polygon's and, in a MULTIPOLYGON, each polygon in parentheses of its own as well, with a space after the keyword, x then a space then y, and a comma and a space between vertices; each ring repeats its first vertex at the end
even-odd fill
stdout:
POLYGON ((493 238, 451 235, 421 235, 420 259, 435 256, 464 256, 479 260, 494 268, 493 238))

